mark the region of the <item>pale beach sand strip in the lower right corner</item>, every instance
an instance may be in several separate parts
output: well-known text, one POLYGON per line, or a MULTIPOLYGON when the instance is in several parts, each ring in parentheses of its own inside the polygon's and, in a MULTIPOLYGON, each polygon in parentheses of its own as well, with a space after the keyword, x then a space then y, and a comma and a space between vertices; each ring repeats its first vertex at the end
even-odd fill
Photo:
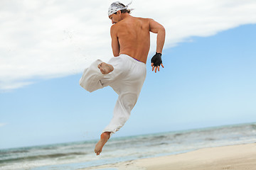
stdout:
POLYGON ((198 149, 166 157, 137 159, 89 169, 118 170, 255 170, 256 143, 198 149))

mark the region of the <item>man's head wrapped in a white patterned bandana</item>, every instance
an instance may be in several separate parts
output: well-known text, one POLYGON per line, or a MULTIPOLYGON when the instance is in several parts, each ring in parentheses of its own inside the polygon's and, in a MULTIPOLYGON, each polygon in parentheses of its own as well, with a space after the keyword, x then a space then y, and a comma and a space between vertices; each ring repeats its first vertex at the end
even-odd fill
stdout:
POLYGON ((119 21, 121 21, 122 13, 130 13, 131 12, 131 10, 129 10, 127 8, 128 6, 129 6, 129 4, 127 6, 124 6, 124 4, 122 4, 119 1, 113 2, 110 5, 110 8, 108 10, 108 16, 112 20, 112 23, 118 23, 119 21))

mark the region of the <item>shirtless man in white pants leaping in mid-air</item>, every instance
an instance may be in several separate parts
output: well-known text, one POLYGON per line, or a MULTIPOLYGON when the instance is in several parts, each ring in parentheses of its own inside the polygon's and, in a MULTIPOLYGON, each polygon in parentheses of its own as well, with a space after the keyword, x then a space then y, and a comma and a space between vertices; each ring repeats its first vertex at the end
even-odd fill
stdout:
POLYGON ((164 47, 165 29, 150 18, 137 18, 129 15, 130 10, 119 1, 110 5, 108 16, 112 20, 110 35, 114 57, 105 63, 93 62, 85 69, 80 85, 87 91, 95 91, 111 86, 119 95, 114 106, 113 118, 100 135, 95 146, 97 155, 109 140, 129 119, 142 85, 146 78, 146 59, 150 47, 150 32, 157 33, 156 55, 151 59, 152 71, 164 68, 161 53, 164 47))

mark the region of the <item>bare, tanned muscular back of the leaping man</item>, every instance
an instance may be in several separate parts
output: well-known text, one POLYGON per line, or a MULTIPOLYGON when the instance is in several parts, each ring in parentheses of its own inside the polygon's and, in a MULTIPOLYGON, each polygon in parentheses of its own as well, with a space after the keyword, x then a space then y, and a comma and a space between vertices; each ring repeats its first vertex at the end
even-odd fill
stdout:
POLYGON ((129 16, 112 26, 112 49, 115 56, 125 54, 146 63, 150 47, 150 21, 129 16), (113 45, 117 38, 118 45, 113 45), (115 46, 115 47, 113 47, 115 46), (119 49, 117 49, 119 48, 119 49), (119 52, 118 52, 119 50, 119 52), (119 54, 117 54, 117 52, 119 54))

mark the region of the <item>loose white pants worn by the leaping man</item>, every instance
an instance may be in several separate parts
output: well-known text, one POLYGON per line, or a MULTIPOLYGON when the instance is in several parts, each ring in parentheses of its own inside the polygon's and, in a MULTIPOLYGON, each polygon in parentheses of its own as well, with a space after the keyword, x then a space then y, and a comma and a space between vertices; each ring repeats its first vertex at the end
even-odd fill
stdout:
POLYGON ((97 67, 101 62, 101 60, 96 60, 85 69, 79 84, 90 92, 111 86, 119 95, 114 106, 113 118, 102 131, 111 132, 112 135, 122 128, 129 119, 146 79, 146 64, 134 60, 129 55, 119 55, 119 57, 112 57, 107 62, 114 67, 114 70, 109 74, 102 74, 97 67))

